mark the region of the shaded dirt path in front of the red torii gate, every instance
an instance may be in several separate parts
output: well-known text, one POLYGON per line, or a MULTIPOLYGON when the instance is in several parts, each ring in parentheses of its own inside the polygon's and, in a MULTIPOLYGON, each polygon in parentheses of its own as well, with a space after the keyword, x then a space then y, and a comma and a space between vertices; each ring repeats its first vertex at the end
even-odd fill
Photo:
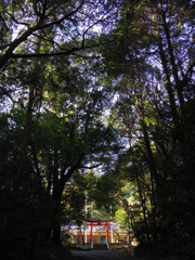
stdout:
POLYGON ((73 251, 74 256, 80 260, 130 260, 123 251, 119 250, 94 250, 94 251, 73 251))

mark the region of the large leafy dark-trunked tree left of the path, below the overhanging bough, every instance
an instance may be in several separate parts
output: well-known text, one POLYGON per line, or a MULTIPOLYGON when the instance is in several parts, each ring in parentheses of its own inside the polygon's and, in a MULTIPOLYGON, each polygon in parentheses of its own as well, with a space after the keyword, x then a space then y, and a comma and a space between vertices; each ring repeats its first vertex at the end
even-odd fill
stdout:
MULTIPOLYGON (((13 131, 13 136, 18 129, 20 138, 13 141, 13 148, 16 151, 13 155, 16 171, 13 171, 11 164, 9 167, 9 161, 5 159, 11 153, 9 146, 8 153, 2 157, 5 159, 2 164, 2 171, 5 171, 8 167, 11 171, 9 178, 5 178, 4 174, 1 179, 1 187, 6 186, 5 190, 9 194, 9 210, 6 210, 5 204, 2 208, 2 212, 4 212, 2 219, 5 219, 2 230, 3 234, 6 234, 10 229, 15 229, 14 226, 17 225, 12 237, 13 240, 21 243, 21 247, 24 237, 30 237, 26 243, 26 256, 35 255, 38 247, 50 240, 50 237, 55 244, 60 243, 60 227, 61 224, 64 224, 63 204, 66 204, 64 203, 64 193, 66 193, 64 190, 73 174, 83 174, 87 169, 106 165, 109 162, 107 158, 112 155, 112 150, 117 152, 117 142, 113 130, 102 122, 103 106, 107 101, 100 87, 102 79, 101 77, 94 79, 95 73, 92 70, 93 66, 95 69, 99 69, 99 66, 90 58, 88 61, 89 64, 87 62, 86 64, 92 65, 91 72, 88 70, 87 65, 82 64, 79 67, 82 63, 79 57, 72 57, 69 61, 53 57, 52 65, 51 60, 44 60, 42 67, 38 62, 37 72, 42 74, 37 74, 36 83, 34 81, 30 106, 30 100, 26 102, 26 93, 24 93, 21 95, 24 109, 16 108, 16 105, 12 109, 13 114, 22 115, 20 120, 12 113, 6 113, 3 117, 12 118, 5 120, 5 126, 8 125, 11 132, 13 131), (72 69, 69 68, 70 64, 72 69), (22 171, 21 150, 23 150, 23 134, 28 112, 30 120, 28 121, 28 138, 26 139, 26 154, 22 171), (13 204, 18 208, 10 208, 10 205, 13 204), (42 210, 44 204, 47 206, 42 210), (25 207, 21 207, 21 205, 25 205, 25 207), (18 218, 21 214, 23 218, 18 218), (9 224, 8 226, 6 223, 10 221, 13 225, 9 224), (18 232, 20 230, 22 234, 18 232), (18 236, 21 236, 20 239, 18 236)), ((12 67, 10 67, 10 72, 11 69, 12 67)), ((31 70, 34 75, 34 66, 31 66, 31 70)), ((24 72, 23 68, 21 72, 24 72)), ((28 66, 29 72, 30 66, 28 66)), ((32 75, 29 73, 24 78, 21 77, 18 86, 25 88, 23 83, 31 82, 32 75)), ((9 82, 12 82, 12 79, 9 82)), ((23 93, 23 89, 21 92, 23 93)), ((5 129, 2 129, 2 136, 5 136, 4 146, 9 140, 8 134, 10 134, 5 129)), ((77 179, 75 178, 75 180, 77 179)), ((77 196, 77 193, 75 195, 72 193, 72 199, 77 196)), ((82 194, 81 188, 79 194, 82 194)), ((1 191, 1 195, 4 197, 4 190, 1 191)), ((75 204, 74 199, 72 204, 75 204)), ((77 214, 81 213, 81 207, 82 199, 76 211, 77 214)), ((79 220, 79 216, 77 216, 77 220, 79 220)), ((2 245, 6 239, 6 235, 4 235, 2 245)), ((15 247, 15 243, 13 243, 13 247, 15 247)), ((21 251, 17 252, 21 253, 21 251)))

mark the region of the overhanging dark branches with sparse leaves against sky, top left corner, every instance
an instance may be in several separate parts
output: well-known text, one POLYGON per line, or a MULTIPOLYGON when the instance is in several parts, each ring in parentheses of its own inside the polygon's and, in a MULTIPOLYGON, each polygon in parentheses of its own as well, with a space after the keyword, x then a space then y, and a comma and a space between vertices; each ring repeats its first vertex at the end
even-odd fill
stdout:
POLYGON ((106 15, 116 12, 116 5, 83 0, 2 1, 0 69, 13 58, 67 55, 95 46, 95 39, 90 46, 86 39, 93 35, 95 25, 105 25, 106 15), (44 44, 36 53, 40 39, 44 44))

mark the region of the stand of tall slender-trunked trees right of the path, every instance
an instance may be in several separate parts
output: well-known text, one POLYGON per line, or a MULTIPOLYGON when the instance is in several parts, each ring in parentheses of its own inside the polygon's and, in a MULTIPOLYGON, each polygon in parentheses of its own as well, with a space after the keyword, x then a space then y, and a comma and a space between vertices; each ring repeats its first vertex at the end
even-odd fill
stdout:
MULTIPOLYGON (((190 188, 194 183, 190 138, 194 120, 188 109, 194 103, 195 64, 188 41, 188 36, 194 37, 193 9, 190 1, 126 1, 115 30, 117 41, 109 52, 104 50, 117 95, 110 122, 130 147, 126 167, 139 190, 145 239, 158 242, 166 237, 181 246, 183 237, 187 239, 191 234, 192 248, 190 226, 194 225, 186 223, 194 219, 194 193, 190 188), (138 158, 141 161, 136 162, 138 158), (147 185, 141 184, 145 178, 147 185), (184 197, 188 203, 183 203, 184 197), (146 229, 148 223, 151 230, 146 229)), ((182 245, 186 250, 187 243, 182 245)))

